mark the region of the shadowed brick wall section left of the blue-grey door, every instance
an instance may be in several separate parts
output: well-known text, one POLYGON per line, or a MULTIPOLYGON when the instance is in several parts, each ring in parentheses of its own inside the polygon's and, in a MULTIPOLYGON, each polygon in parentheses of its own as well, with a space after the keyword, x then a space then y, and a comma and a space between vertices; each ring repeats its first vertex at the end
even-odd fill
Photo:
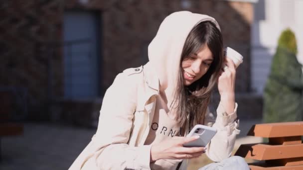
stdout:
POLYGON ((0 86, 22 86, 29 101, 47 98, 48 70, 52 91, 62 95, 62 56, 50 47, 61 39, 60 0, 6 0, 1 3, 0 86), (52 68, 49 68, 49 64, 52 68))

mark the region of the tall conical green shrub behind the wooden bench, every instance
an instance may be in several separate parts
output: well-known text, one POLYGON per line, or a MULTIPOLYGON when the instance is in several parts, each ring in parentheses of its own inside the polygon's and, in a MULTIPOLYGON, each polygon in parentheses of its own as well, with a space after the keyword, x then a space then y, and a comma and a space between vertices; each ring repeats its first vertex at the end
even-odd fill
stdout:
POLYGON ((295 34, 282 32, 264 89, 264 122, 301 121, 303 116, 302 65, 297 60, 295 34))

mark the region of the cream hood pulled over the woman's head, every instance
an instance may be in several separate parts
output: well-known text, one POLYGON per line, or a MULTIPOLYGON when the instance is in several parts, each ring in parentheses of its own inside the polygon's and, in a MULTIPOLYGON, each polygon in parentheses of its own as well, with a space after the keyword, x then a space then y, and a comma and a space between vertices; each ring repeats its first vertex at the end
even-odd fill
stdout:
POLYGON ((165 91, 168 99, 172 99, 177 87, 185 40, 192 28, 202 21, 211 21, 220 30, 217 21, 208 15, 178 11, 171 13, 162 21, 149 45, 149 67, 159 78, 160 90, 165 91))

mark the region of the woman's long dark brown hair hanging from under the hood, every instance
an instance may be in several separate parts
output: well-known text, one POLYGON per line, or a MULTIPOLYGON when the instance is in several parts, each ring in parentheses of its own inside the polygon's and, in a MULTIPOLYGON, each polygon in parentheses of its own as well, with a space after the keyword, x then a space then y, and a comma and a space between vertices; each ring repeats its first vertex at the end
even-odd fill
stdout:
POLYGON ((223 63, 223 38, 220 30, 211 21, 200 22, 188 34, 181 53, 177 90, 172 105, 176 104, 175 119, 183 126, 189 116, 189 128, 204 122, 211 92, 216 85, 223 63), (207 46, 213 62, 199 80, 189 86, 183 84, 182 61, 207 46))

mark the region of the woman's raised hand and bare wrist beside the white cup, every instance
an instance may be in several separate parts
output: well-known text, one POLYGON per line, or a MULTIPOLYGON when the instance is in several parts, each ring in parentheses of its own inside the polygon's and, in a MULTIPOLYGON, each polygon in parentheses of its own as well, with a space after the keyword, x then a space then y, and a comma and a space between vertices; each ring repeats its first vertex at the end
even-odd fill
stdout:
POLYGON ((235 81, 236 68, 234 62, 225 58, 224 68, 218 79, 218 90, 221 97, 221 104, 227 114, 233 113, 235 108, 235 81))

